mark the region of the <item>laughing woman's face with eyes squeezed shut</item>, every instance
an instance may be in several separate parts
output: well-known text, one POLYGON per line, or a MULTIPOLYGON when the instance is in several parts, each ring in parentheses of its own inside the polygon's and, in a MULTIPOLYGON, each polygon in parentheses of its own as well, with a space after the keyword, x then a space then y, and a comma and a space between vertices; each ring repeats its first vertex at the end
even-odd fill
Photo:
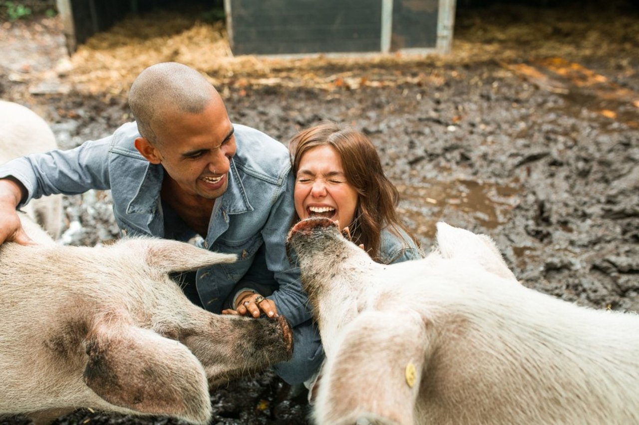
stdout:
POLYGON ((297 167, 295 210, 302 220, 327 217, 349 226, 357 208, 357 191, 346 181, 342 160, 330 145, 309 149, 297 167))

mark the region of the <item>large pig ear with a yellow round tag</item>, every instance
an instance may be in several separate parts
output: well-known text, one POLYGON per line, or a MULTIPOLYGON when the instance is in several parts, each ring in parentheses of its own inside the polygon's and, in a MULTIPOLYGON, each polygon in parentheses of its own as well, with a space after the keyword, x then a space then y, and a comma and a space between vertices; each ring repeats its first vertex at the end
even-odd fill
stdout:
POLYGON ((415 399, 431 352, 419 314, 364 311, 336 347, 319 382, 318 424, 415 423, 415 399))

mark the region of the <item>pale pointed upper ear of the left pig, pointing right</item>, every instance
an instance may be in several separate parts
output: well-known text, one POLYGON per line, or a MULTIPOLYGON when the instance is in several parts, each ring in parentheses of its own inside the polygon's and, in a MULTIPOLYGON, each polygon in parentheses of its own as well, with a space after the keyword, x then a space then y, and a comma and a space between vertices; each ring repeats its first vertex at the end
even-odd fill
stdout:
MULTIPOLYGON (((235 254, 222 254, 170 239, 128 239, 128 250, 140 253, 148 265, 162 272, 196 270, 207 265, 235 262, 235 254)), ((139 255, 139 254, 135 254, 139 255)))

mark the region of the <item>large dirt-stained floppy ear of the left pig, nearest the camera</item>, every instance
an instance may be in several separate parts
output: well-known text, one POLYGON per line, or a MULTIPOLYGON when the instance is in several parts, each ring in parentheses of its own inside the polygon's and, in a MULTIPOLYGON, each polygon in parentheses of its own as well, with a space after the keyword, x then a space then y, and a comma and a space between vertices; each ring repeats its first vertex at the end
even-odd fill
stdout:
POLYGON ((112 405, 206 424, 203 366, 187 347, 134 326, 98 325, 87 341, 84 382, 112 405))

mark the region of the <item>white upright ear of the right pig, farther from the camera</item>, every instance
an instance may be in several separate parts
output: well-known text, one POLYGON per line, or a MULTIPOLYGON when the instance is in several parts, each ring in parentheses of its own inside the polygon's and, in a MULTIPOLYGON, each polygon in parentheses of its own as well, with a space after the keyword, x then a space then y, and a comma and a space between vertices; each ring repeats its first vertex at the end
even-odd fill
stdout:
POLYGON ((437 245, 443 258, 475 261, 501 278, 517 280, 488 235, 477 235, 440 221, 437 223, 437 245))

